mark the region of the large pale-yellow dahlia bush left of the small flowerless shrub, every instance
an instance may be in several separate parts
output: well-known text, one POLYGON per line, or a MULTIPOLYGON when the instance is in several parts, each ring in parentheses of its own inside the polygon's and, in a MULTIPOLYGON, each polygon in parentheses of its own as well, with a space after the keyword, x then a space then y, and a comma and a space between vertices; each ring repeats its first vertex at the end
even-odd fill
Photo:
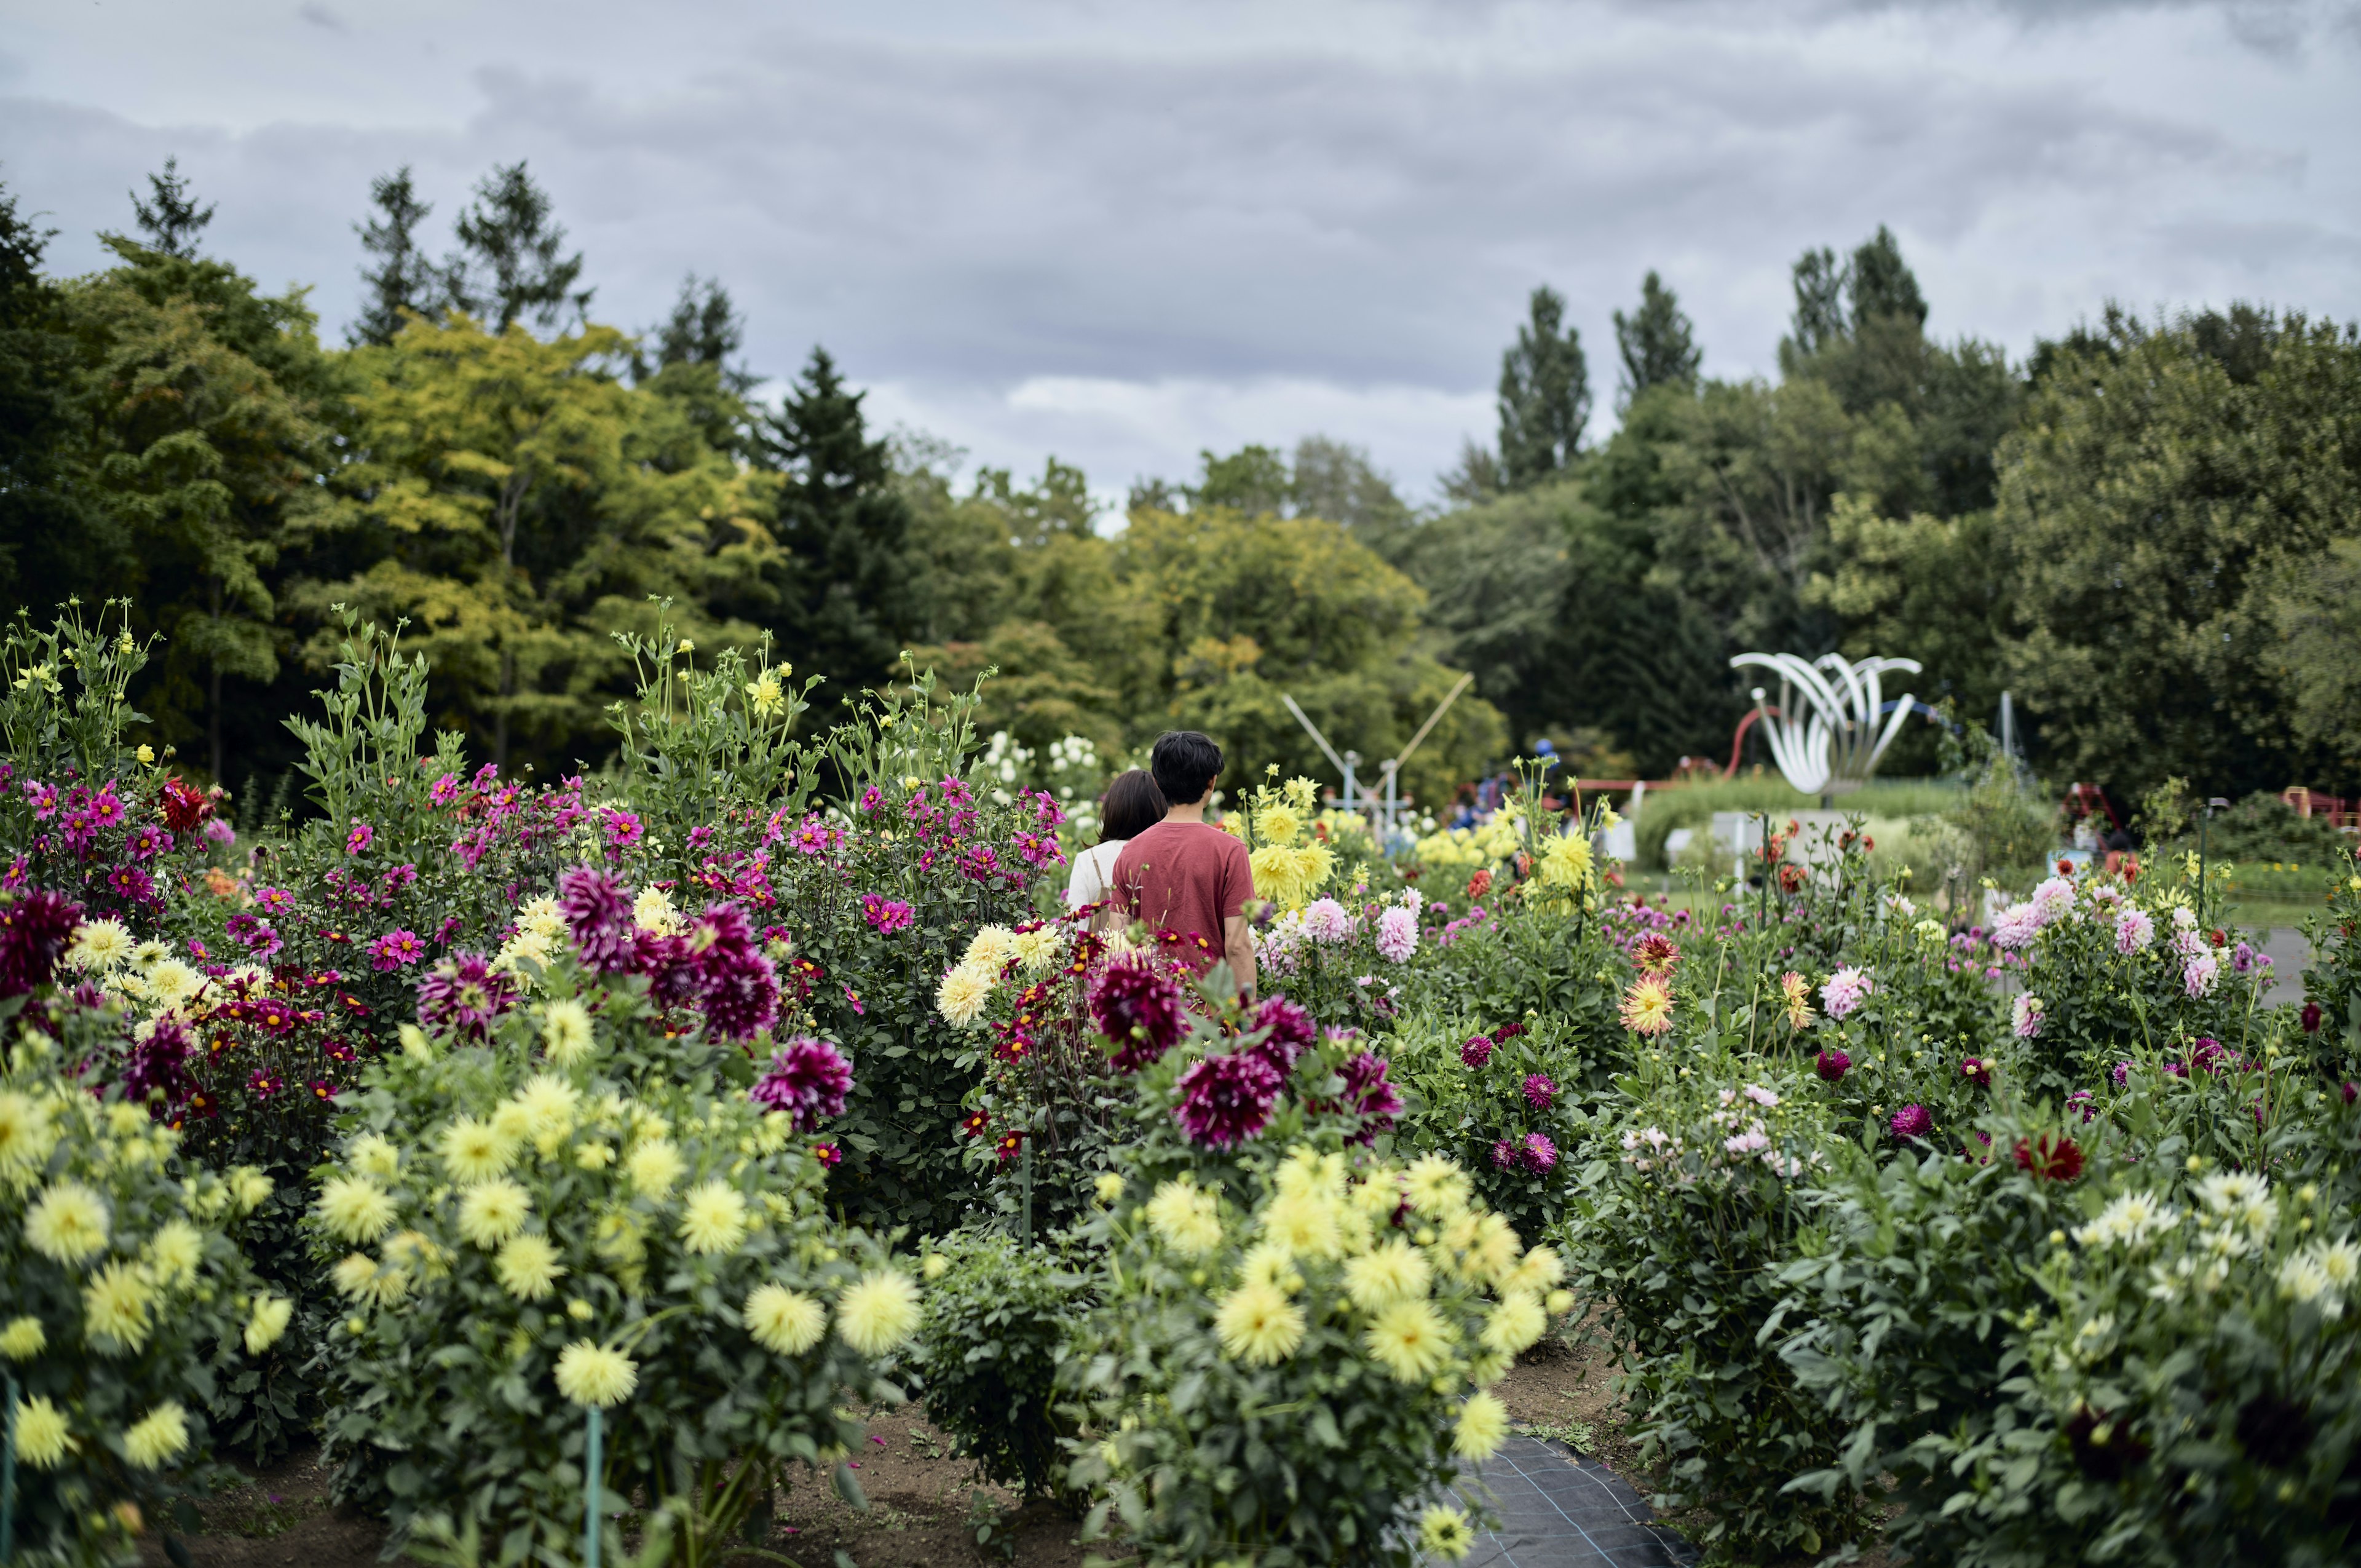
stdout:
POLYGON ((602 1495, 708 1561, 789 1466, 859 1440, 841 1389, 897 1398, 878 1358, 916 1287, 826 1221, 796 1112, 718 1077, 734 1051, 682 1056, 647 992, 560 954, 538 1001, 411 1034, 354 1098, 309 1219, 349 1313, 328 1431, 397 1542, 567 1551, 581 1405, 614 1403, 602 1495))

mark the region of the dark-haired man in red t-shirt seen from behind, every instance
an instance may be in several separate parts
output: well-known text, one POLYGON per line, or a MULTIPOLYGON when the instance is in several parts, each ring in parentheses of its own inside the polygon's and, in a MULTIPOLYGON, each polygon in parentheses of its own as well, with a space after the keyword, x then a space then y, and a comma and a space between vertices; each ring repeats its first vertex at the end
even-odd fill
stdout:
POLYGON ((1197 973, 1228 959, 1240 994, 1251 997, 1247 900, 1254 897, 1254 867, 1247 864, 1247 845, 1204 819, 1204 791, 1221 775, 1221 746, 1195 730, 1169 730, 1147 753, 1147 772, 1164 791, 1164 822, 1114 857, 1110 897, 1157 930, 1204 937, 1204 947, 1190 942, 1185 949, 1197 973))

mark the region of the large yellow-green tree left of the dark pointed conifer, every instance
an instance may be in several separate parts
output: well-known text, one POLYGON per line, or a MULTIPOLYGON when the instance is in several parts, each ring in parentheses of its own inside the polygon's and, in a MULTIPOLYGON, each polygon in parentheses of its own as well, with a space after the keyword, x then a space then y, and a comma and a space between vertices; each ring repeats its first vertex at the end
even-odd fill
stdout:
POLYGON ((501 763, 519 744, 557 763, 604 746, 611 633, 645 628, 649 595, 680 602, 692 642, 760 635, 701 605, 777 564, 774 479, 715 451, 692 401, 626 387, 628 347, 607 326, 543 342, 451 314, 352 352, 357 456, 338 484, 368 564, 309 595, 408 616, 444 723, 501 763))

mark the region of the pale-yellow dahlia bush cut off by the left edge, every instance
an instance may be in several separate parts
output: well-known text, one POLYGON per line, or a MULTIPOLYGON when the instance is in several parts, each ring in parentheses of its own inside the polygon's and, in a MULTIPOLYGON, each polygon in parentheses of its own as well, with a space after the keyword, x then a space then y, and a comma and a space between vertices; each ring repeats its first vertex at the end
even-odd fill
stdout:
POLYGON ((182 1178, 179 1133, 61 1070, 113 1020, 68 1006, 45 1025, 61 1039, 28 1027, 0 1072, 14 1561, 123 1563, 142 1516, 175 1516, 205 1478, 217 1360, 234 1360, 241 1339, 267 1351, 290 1304, 255 1292, 229 1235, 269 1181, 250 1169, 182 1178))

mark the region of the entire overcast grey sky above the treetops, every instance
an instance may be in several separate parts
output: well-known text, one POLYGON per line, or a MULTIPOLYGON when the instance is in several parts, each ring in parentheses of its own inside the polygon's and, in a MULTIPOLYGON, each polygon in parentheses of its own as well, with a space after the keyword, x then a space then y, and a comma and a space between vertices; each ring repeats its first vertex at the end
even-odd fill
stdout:
POLYGON ((529 158, 600 319, 720 276, 758 371, 824 342, 883 425, 1100 491, 1327 432, 1426 498, 1535 283, 1605 427, 1648 267, 1771 373, 1794 255, 1879 222, 1929 331, 2012 354, 2108 298, 2361 316, 2352 0, 0 0, 54 269, 165 153, 328 338, 373 175, 442 250, 529 158))

